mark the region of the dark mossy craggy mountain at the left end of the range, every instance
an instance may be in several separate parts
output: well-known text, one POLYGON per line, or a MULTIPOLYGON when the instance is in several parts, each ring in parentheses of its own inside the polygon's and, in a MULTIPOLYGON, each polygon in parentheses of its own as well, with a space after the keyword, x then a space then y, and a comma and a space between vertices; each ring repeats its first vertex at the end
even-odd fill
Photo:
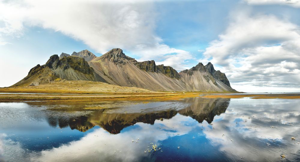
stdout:
POLYGON ((82 57, 62 53, 61 57, 52 55, 43 66, 32 68, 25 78, 13 86, 39 85, 60 79, 106 82, 82 57))

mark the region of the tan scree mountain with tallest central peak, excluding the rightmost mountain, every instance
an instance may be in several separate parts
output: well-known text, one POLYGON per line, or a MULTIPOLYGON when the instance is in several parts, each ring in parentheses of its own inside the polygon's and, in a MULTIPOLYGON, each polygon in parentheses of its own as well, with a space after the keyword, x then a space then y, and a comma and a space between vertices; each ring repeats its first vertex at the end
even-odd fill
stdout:
POLYGON ((163 65, 157 68, 154 61, 137 62, 121 49, 112 49, 91 60, 89 65, 110 84, 155 91, 187 91, 184 81, 178 79, 178 73, 173 68, 170 72, 170 68, 163 65))

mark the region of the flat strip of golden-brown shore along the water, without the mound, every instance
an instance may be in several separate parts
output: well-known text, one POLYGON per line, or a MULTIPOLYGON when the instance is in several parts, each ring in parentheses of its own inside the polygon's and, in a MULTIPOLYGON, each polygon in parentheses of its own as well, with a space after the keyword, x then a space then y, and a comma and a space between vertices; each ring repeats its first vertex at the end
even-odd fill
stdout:
POLYGON ((238 99, 249 97, 251 99, 300 99, 300 93, 294 94, 234 94, 234 93, 218 93, 218 92, 186 92, 186 93, 44 93, 44 94, 15 94, 15 91, 0 93, 0 102, 104 102, 104 101, 146 101, 157 102, 167 100, 180 100, 191 97, 201 98, 230 98, 238 99))

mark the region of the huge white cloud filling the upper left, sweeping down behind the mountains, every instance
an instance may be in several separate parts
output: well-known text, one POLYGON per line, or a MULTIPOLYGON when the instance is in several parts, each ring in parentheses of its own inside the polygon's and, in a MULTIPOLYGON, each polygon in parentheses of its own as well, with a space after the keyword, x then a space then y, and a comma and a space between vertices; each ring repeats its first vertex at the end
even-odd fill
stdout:
POLYGON ((39 26, 81 40, 102 54, 112 48, 125 49, 140 59, 176 53, 181 64, 191 57, 155 34, 158 15, 152 1, 2 1, 0 15, 0 34, 21 37, 24 28, 39 26))

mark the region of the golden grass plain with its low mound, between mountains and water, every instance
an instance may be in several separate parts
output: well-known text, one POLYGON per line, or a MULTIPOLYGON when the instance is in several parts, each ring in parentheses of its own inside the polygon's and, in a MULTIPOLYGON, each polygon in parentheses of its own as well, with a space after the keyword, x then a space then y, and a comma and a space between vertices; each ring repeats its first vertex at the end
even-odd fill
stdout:
POLYGON ((45 93, 45 94, 0 94, 0 102, 51 101, 51 102, 105 102, 105 101, 166 101, 190 97, 253 99, 300 99, 299 94, 232 94, 228 92, 154 92, 137 87, 92 81, 55 81, 38 86, 5 87, 0 93, 45 93))

